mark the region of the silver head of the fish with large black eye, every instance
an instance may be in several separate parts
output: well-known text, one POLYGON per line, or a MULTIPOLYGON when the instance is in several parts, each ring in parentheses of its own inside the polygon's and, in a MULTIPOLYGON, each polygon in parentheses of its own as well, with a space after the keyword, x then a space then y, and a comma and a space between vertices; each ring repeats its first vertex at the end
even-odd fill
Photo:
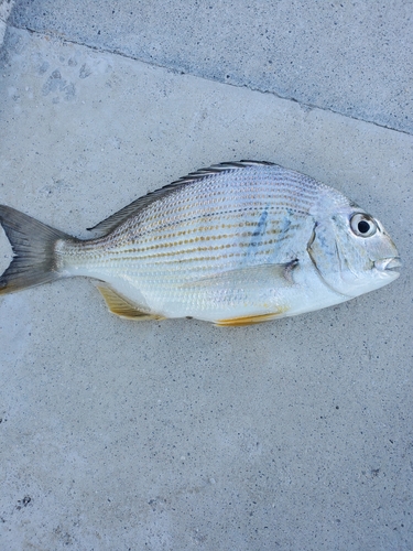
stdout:
POLYGON ((391 283, 402 266, 383 225, 350 202, 315 222, 307 251, 324 282, 349 298, 391 283))

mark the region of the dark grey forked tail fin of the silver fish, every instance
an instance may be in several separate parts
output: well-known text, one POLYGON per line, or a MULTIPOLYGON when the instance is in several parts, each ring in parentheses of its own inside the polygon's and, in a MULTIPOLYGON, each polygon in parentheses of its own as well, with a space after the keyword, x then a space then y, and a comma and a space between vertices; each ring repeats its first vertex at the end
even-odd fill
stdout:
POLYGON ((14 257, 0 277, 0 294, 40 285, 61 277, 57 272, 55 242, 72 239, 14 208, 0 205, 0 224, 9 238, 14 257))

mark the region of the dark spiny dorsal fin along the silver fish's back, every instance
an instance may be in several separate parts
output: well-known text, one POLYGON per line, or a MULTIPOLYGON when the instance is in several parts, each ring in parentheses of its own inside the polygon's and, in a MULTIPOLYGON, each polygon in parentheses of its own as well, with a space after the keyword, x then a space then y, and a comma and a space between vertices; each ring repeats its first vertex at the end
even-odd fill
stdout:
POLYGON ((151 205, 161 197, 165 197, 166 195, 174 193, 176 190, 178 190, 184 185, 192 184, 207 176, 213 176, 214 174, 217 174, 219 172, 226 172, 235 169, 246 169, 247 166, 259 166, 259 165, 269 166, 273 165, 273 163, 269 163, 265 161, 239 161, 235 163, 229 162, 229 163, 214 164, 208 169, 200 169, 196 172, 192 172, 187 176, 183 176, 180 180, 176 180, 175 182, 165 185, 164 187, 161 187, 160 190, 150 192, 146 195, 143 195, 143 197, 139 197, 139 199, 133 201, 133 203, 131 203, 130 205, 121 208, 120 210, 112 214, 105 220, 99 222, 99 224, 97 224, 96 226, 87 229, 90 231, 96 231, 101 236, 105 234, 109 234, 109 231, 112 231, 115 228, 120 226, 130 216, 137 215, 142 208, 148 207, 149 205, 151 205))

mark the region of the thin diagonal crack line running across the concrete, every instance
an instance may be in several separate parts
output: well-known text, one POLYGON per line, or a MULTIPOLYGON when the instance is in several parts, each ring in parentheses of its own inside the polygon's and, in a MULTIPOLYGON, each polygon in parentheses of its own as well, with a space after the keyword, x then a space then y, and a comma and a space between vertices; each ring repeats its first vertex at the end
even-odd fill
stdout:
MULTIPOLYGON (((6 23, 6 21, 4 21, 4 23, 6 23)), ((411 132, 407 132, 406 130, 401 130, 399 128, 389 127, 387 125, 380 125, 379 122, 376 122, 374 120, 366 120, 366 119, 362 119, 362 118, 359 118, 359 117, 355 117, 352 115, 346 115, 346 114, 344 114, 341 111, 336 111, 335 109, 332 109, 332 108, 328 108, 328 107, 320 107, 320 106, 315 105, 315 104, 304 104, 304 102, 300 101, 298 99, 294 98, 293 96, 282 96, 282 95, 278 94, 276 91, 268 90, 268 89, 261 89, 261 88, 254 88, 254 87, 248 86, 246 84, 226 83, 224 80, 219 80, 218 78, 210 78, 210 77, 203 76, 203 75, 195 75, 193 73, 189 73, 189 72, 186 72, 186 71, 183 71, 183 69, 178 69, 178 68, 174 68, 174 67, 169 67, 167 65, 162 65, 160 63, 155 63, 155 62, 150 63, 150 62, 148 62, 145 60, 142 60, 140 57, 135 57, 133 55, 128 55, 124 52, 121 52, 121 51, 118 51, 118 50, 110 50, 110 48, 105 48, 105 47, 98 47, 98 46, 94 46, 93 44, 77 42, 75 40, 68 39, 64 34, 57 33, 56 31, 42 32, 42 31, 37 31, 35 29, 30 29, 30 28, 25 28, 25 26, 21 28, 21 26, 10 25, 10 24, 7 24, 7 23, 6 23, 6 25, 10 26, 10 28, 13 28, 13 29, 19 29, 21 31, 28 31, 31 34, 39 34, 41 36, 43 35, 43 36, 57 37, 57 39, 59 39, 63 42, 66 42, 68 44, 75 44, 77 46, 84 46, 84 47, 87 47, 87 48, 93 50, 95 52, 101 52, 101 53, 108 53, 108 54, 119 55, 119 56, 124 57, 127 60, 133 60, 133 61, 137 61, 139 63, 143 63, 145 65, 152 66, 152 67, 157 67, 157 68, 163 68, 163 69, 170 71, 173 74, 189 75, 189 76, 194 76, 196 78, 203 78, 205 80, 215 82, 215 83, 219 83, 219 84, 225 84, 227 86, 233 86, 236 88, 247 88, 247 89, 249 89, 251 91, 259 91, 261 94, 271 94, 272 96, 275 96, 279 99, 284 99, 286 101, 294 101, 295 104, 298 104, 303 109, 307 109, 307 110, 319 109, 320 111, 327 111, 327 112, 332 112, 334 115, 340 115, 341 117, 346 117, 347 119, 352 119, 352 120, 366 122, 368 125, 374 125, 376 127, 384 128, 387 130, 392 130, 393 132, 400 132, 400 133, 403 133, 403 134, 406 134, 406 136, 413 136, 411 132)), ((1 41, 0 41, 0 46, 1 46, 1 41)))

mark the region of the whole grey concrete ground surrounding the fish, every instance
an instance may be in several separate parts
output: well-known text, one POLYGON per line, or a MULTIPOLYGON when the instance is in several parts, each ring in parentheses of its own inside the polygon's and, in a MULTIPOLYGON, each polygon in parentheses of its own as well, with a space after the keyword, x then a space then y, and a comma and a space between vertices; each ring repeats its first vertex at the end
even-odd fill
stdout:
POLYGON ((264 159, 378 216, 402 274, 227 329, 86 279, 2 298, 1 550, 413 548, 412 4, 257 4, 0 0, 0 202, 86 237, 264 159))

